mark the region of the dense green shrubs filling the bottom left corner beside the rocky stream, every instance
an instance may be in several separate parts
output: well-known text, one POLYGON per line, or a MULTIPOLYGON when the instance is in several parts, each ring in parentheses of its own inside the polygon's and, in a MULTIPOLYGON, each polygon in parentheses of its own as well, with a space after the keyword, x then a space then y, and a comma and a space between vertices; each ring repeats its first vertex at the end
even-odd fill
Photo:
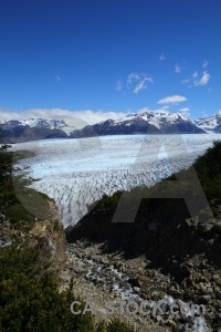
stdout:
POLYGON ((73 297, 73 286, 59 293, 56 277, 40 267, 39 255, 29 242, 18 240, 0 249, 0 331, 133 331, 118 320, 95 322, 90 313, 73 314, 72 301, 81 301, 73 297))

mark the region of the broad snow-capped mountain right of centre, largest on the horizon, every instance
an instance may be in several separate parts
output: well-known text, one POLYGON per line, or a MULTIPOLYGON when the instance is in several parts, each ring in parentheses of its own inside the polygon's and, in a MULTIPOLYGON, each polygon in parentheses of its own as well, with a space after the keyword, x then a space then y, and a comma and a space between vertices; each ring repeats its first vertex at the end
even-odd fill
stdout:
POLYGON ((204 133, 190 120, 180 113, 144 112, 128 114, 120 120, 107 120, 83 129, 73 131, 72 138, 91 137, 96 135, 126 135, 126 134, 176 134, 204 133))

